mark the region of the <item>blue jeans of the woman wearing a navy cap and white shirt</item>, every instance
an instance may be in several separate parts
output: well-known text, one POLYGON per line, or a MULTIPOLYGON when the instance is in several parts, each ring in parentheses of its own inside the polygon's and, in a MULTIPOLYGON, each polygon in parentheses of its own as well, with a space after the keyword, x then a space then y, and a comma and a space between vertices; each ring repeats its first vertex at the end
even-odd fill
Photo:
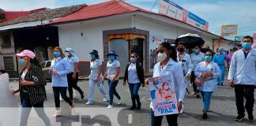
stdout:
POLYGON ((114 95, 116 96, 116 98, 121 99, 121 97, 119 96, 119 94, 115 90, 115 87, 119 83, 119 80, 115 80, 115 82, 112 83, 111 80, 107 79, 107 83, 108 83, 108 86, 109 86, 109 105, 113 106, 114 95))

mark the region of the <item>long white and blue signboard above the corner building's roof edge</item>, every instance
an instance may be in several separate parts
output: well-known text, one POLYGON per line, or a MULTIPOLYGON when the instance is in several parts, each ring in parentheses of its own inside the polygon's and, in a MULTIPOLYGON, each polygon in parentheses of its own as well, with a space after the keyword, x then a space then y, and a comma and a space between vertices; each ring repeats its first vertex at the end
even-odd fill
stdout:
POLYGON ((159 13, 208 31, 209 23, 170 0, 160 0, 159 13))

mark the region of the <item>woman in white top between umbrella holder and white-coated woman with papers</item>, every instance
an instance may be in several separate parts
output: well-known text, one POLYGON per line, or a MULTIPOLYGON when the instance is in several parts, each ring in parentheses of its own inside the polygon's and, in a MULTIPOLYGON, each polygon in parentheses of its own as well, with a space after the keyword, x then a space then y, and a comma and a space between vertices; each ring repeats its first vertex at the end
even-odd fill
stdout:
POLYGON ((198 64, 201 61, 205 61, 205 54, 201 52, 201 46, 195 46, 194 47, 194 52, 190 54, 190 59, 192 63, 192 72, 190 76, 190 81, 193 84, 193 90, 194 92, 191 95, 197 95, 197 98, 199 98, 199 91, 197 88, 197 85, 194 83, 194 79, 196 76, 194 76, 194 69, 197 68, 198 64))

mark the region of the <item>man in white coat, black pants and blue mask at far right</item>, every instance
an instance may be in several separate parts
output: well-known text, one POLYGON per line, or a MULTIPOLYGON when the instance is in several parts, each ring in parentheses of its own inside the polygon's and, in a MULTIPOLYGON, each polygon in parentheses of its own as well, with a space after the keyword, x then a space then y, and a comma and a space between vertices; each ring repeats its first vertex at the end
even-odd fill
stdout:
POLYGON ((249 35, 243 38, 243 48, 232 56, 228 72, 229 84, 235 86, 235 104, 237 121, 242 121, 247 110, 248 119, 254 121, 254 88, 256 87, 256 50, 251 49, 253 38, 249 35), (243 98, 247 102, 244 106, 243 98))

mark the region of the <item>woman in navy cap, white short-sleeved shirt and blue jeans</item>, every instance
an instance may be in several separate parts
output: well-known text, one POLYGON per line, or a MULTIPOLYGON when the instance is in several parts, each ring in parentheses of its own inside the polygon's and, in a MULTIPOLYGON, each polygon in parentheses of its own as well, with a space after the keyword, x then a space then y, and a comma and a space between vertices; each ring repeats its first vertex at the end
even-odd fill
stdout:
MULTIPOLYGON (((122 97, 120 97, 118 92, 115 90, 115 87, 119 83, 120 72, 120 62, 116 59, 118 56, 119 55, 115 54, 114 50, 107 54, 109 61, 107 61, 107 69, 104 73, 104 78, 107 77, 107 83, 109 86, 109 105, 107 106, 107 109, 113 108, 114 95, 119 99, 118 104, 121 104, 122 102, 122 97)), ((104 80, 102 80, 102 83, 104 83, 104 80)))

